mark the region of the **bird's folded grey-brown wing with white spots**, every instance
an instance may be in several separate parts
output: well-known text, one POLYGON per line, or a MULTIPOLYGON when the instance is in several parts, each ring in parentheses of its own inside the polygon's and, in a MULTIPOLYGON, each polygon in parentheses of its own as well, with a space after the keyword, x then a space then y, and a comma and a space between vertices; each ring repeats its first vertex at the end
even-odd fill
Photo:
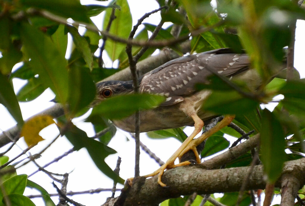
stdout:
POLYGON ((232 53, 229 49, 188 55, 145 74, 140 91, 172 97, 169 101, 174 104, 183 101, 183 96, 196 91, 196 83, 208 83, 211 72, 206 69, 207 66, 221 75, 231 77, 248 70, 249 64, 246 54, 232 53))

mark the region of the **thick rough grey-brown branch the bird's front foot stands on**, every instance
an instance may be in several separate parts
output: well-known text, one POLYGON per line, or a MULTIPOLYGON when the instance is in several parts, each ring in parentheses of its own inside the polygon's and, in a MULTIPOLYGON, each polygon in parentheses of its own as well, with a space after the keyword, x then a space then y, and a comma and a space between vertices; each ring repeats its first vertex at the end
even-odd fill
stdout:
MULTIPOLYGON (((136 202, 137 205, 154 206, 163 200, 190 195, 193 192, 211 194, 239 191, 248 170, 249 167, 206 170, 201 164, 176 167, 166 171, 162 177, 162 181, 168 186, 166 188, 157 183, 157 176, 146 180, 139 177, 128 189, 124 205, 134 205, 136 202)), ((282 177, 286 174, 292 175, 299 180, 301 186, 304 184, 304 170, 305 158, 288 161, 284 165, 282 177)), ((264 189, 266 186, 264 179, 263 166, 255 166, 245 189, 264 189)), ((280 181, 277 181, 275 186, 280 187, 280 181)))

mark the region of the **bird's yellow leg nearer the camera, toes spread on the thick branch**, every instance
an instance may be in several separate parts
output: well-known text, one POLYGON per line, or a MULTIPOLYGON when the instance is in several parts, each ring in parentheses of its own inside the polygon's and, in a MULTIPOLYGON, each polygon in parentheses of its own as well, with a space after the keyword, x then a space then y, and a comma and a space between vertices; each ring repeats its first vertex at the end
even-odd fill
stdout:
MULTIPOLYGON (((174 164, 174 161, 177 159, 177 157, 180 155, 180 153, 182 151, 184 151, 184 149, 188 146, 188 144, 190 142, 192 142, 192 140, 194 139, 194 137, 199 134, 199 132, 202 130, 203 127, 203 121, 197 116, 197 114, 193 114, 191 115, 192 119, 194 120, 195 124, 195 129, 192 132, 192 134, 186 138, 186 140, 182 143, 182 145, 177 149, 177 151, 166 161, 165 164, 163 164, 158 170, 154 171, 153 173, 149 174, 149 175, 145 175, 144 177, 152 177, 158 174, 158 183, 165 187, 166 185, 161 181, 161 177, 164 173, 165 169, 170 169, 176 166, 182 166, 182 165, 189 165, 190 162, 189 161, 185 161, 183 163, 180 163, 178 165, 174 164)), ((198 154, 198 153, 197 153, 198 154)))

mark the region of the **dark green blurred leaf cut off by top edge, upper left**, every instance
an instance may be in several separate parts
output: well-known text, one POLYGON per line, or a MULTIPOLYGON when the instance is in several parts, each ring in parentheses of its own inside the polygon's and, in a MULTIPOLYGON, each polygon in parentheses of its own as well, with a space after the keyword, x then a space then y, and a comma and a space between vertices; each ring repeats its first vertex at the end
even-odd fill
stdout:
POLYGON ((72 18, 75 21, 90 23, 85 6, 81 5, 78 0, 21 0, 20 3, 25 6, 47 10, 61 17, 72 18))

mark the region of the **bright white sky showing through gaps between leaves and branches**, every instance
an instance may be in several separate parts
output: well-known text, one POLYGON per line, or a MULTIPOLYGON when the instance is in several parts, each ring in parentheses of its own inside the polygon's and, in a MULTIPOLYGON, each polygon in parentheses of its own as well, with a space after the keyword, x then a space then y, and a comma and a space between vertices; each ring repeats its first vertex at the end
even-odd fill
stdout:
MULTIPOLYGON (((143 16, 144 13, 150 12, 153 9, 158 8, 158 4, 154 0, 150 1, 136 1, 136 0, 129 0, 131 13, 133 15, 134 24, 135 22, 143 16)), ((94 3, 96 4, 96 1, 86 1, 86 4, 94 3), (89 3, 88 3, 89 2, 89 3)), ((105 5, 104 2, 101 2, 105 5)), ((108 2, 106 2, 107 4, 108 2)), ((101 18, 101 16, 95 17, 95 21, 101 18)), ((149 19, 145 20, 145 22, 150 22, 154 24, 158 24, 160 20, 159 14, 154 14, 149 19)), ((98 24, 97 26, 101 28, 101 24, 98 24)), ((297 30, 296 30, 296 53, 295 53, 295 67, 300 71, 301 77, 305 77, 305 60, 304 60, 304 53, 302 52, 305 48, 305 21, 298 21, 297 22, 297 30)), ((14 89, 17 92, 26 81, 20 80, 20 79, 14 79, 14 89)), ((49 108, 53 105, 52 102, 49 102, 49 100, 54 98, 54 94, 51 90, 46 90, 41 96, 39 96, 37 99, 31 102, 27 103, 20 103, 20 108, 22 111, 22 115, 24 119, 29 118, 33 115, 33 113, 38 113, 40 111, 43 111, 46 108, 49 108)), ((9 115, 7 110, 3 107, 3 105, 0 105, 0 130, 6 131, 10 127, 13 127, 16 122, 13 120, 13 118, 9 115)), ((88 136, 93 136, 94 131, 92 129, 92 126, 90 123, 84 123, 82 118, 77 118, 74 120, 74 124, 77 125, 77 127, 81 128, 82 130, 86 131, 88 136)), ((192 128, 189 127, 186 129, 186 132, 190 134, 192 132, 192 128)), ((55 126, 50 126, 43 131, 41 131, 41 135, 43 138, 45 138, 45 141, 40 142, 37 146, 35 146, 33 149, 30 150, 32 154, 38 153, 42 148, 44 148, 46 145, 48 145, 49 142, 52 141, 53 138, 56 137, 58 131, 55 126)), ((157 156, 159 156, 163 161, 167 160, 168 157, 171 156, 172 153, 180 146, 180 142, 174 138, 168 138, 168 139, 162 139, 162 140, 152 140, 147 138, 145 134, 140 135, 141 141, 148 145, 149 149, 152 150, 152 152, 156 153, 157 156), (170 145, 170 146, 169 146, 170 145)), ((17 142, 17 145, 19 147, 14 147, 7 153, 12 159, 17 154, 21 153, 23 149, 27 148, 27 145, 23 141, 23 138, 17 142)), ((127 179, 129 177, 132 177, 134 175, 134 141, 132 141, 132 138, 129 136, 128 133, 124 131, 118 131, 117 135, 110 141, 109 146, 113 149, 115 149, 118 153, 110 155, 106 158, 106 163, 109 164, 111 168, 115 168, 116 162, 117 162, 117 156, 120 156, 122 158, 122 163, 120 165, 120 176, 124 179, 127 179), (127 141, 127 138, 131 139, 131 141, 127 141)), ((66 151, 68 151, 73 146, 66 140, 66 138, 61 137, 59 138, 51 148, 47 149, 45 153, 42 154, 42 157, 37 160, 38 164, 44 165, 50 161, 52 161, 55 157, 62 155, 66 151)), ((0 152, 4 151, 5 148, 1 148, 0 152)), ((24 158, 23 156, 22 158, 24 158)), ((22 159, 20 158, 20 159, 22 159)), ((159 165, 152 159, 149 158, 149 156, 141 151, 141 157, 140 157, 140 175, 145 175, 148 173, 151 173, 152 171, 159 168, 159 165)), ((67 191, 83 191, 88 189, 96 189, 96 188, 112 188, 113 181, 107 178, 105 175, 103 175, 94 165, 91 158, 88 156, 88 153, 85 149, 81 149, 78 152, 74 152, 68 156, 66 156, 64 159, 59 160, 59 162, 52 164, 51 166, 46 168, 49 171, 55 172, 55 173, 70 173, 69 175, 69 182, 67 185, 67 191)), ((36 166, 32 163, 27 164, 26 166, 20 168, 17 170, 18 174, 31 174, 32 172, 36 171, 36 166)), ((56 193, 56 189, 53 188, 51 182, 53 182, 52 179, 50 179, 47 175, 45 175, 43 172, 38 172, 32 177, 30 177, 30 180, 40 184, 42 187, 44 187, 49 193, 56 193)), ((59 184, 57 184, 60 186, 59 184)), ((117 185, 117 188, 121 188, 122 185, 117 185)), ((34 194, 35 191, 31 191, 30 189, 27 189, 26 195, 34 194)), ((117 192, 117 195, 119 193, 117 192)), ((101 192, 98 194, 86 194, 86 195, 75 195, 70 197, 71 199, 85 205, 90 206, 97 206, 101 205, 106 201, 106 197, 111 196, 110 192, 101 192)), ((52 198, 54 202, 57 204, 58 197, 52 198)), ((44 205, 42 200, 40 198, 32 199, 36 205, 44 205)))

